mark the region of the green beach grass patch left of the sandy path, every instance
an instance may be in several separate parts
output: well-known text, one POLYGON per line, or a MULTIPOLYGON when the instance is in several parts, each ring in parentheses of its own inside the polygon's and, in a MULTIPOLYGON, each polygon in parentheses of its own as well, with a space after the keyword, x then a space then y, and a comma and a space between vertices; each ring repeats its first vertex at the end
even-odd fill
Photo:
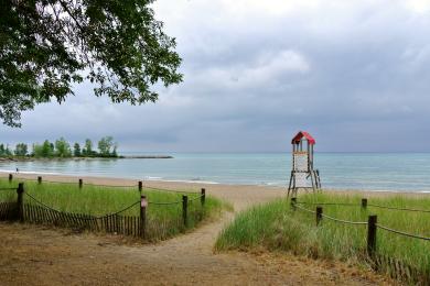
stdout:
MULTIPOLYGON (((62 212, 90 215, 101 217, 131 208, 121 212, 121 216, 140 216, 140 196, 146 195, 149 201, 147 208, 148 239, 163 240, 197 227, 202 221, 217 217, 225 205, 221 200, 206 196, 204 207, 201 204, 200 193, 165 191, 161 189, 136 187, 110 187, 83 185, 77 183, 46 183, 35 180, 0 179, 0 201, 15 201, 19 182, 24 182, 24 194, 43 202, 52 209, 62 212), (1 190, 2 188, 13 188, 1 190), (189 197, 187 226, 182 217, 182 197, 189 197)), ((24 204, 39 205, 31 197, 24 195, 24 204)))

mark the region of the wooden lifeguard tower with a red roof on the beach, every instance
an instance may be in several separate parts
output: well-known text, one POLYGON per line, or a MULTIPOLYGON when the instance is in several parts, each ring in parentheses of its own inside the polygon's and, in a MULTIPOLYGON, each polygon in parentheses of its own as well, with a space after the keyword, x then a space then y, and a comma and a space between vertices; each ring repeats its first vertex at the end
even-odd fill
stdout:
POLYGON ((316 191, 321 189, 320 172, 313 168, 313 145, 315 140, 308 132, 300 131, 291 140, 292 168, 288 196, 297 195, 299 188, 316 191), (309 180, 311 184, 309 185, 309 180))

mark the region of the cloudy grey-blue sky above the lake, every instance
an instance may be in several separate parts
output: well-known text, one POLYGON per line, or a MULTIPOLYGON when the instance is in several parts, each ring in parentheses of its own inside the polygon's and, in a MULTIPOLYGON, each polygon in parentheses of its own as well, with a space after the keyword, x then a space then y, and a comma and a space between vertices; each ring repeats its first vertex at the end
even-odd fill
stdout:
POLYGON ((319 152, 430 152, 430 1, 158 0, 184 81, 157 103, 97 98, 0 125, 0 142, 112 135, 119 151, 284 152, 299 131, 319 152))

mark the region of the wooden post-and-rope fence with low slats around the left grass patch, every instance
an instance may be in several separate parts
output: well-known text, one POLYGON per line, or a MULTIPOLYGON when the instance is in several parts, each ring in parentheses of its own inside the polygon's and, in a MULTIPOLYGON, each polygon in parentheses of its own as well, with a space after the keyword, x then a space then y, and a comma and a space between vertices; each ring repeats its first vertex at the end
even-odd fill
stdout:
MULTIPOLYGON (((9 182, 12 182, 12 175, 9 176, 9 182)), ((26 179, 32 180, 32 179, 26 179)), ((39 184, 42 184, 42 178, 37 177, 39 184)), ((44 180, 50 184, 74 184, 66 182, 52 182, 44 180)), ((83 180, 78 182, 79 188, 83 185, 83 180)), ((87 184, 89 185, 89 184, 87 184)), ((182 193, 182 200, 174 201, 151 201, 147 199, 147 195, 142 193, 142 182, 138 182, 137 186, 108 186, 108 185, 95 185, 106 187, 138 187, 140 193, 140 200, 130 204, 129 206, 103 216, 72 213, 55 209, 39 199, 34 194, 24 191, 24 183, 19 183, 17 188, 0 188, 15 190, 18 198, 15 201, 0 201, 0 220, 19 220, 21 222, 53 224, 67 228, 87 229, 90 231, 105 231, 125 235, 133 235, 148 240, 160 240, 169 238, 178 232, 186 231, 189 228, 193 228, 197 222, 204 219, 205 216, 205 198, 206 190, 201 189, 201 193, 182 193), (195 194, 189 198, 189 194, 195 194), (24 202, 24 198, 25 202, 24 202), (193 201, 200 200, 198 206, 193 201), (136 206, 139 206, 140 211, 133 216, 123 216, 125 212, 136 206), (181 206, 175 211, 148 208, 149 206, 181 206), (148 212, 149 210, 149 212, 148 212)), ((155 189, 155 188, 153 188, 155 189)), ((157 188, 162 191, 163 189, 157 188)), ((139 194, 138 193, 138 194, 139 194)), ((132 212, 133 213, 133 212, 132 212)))

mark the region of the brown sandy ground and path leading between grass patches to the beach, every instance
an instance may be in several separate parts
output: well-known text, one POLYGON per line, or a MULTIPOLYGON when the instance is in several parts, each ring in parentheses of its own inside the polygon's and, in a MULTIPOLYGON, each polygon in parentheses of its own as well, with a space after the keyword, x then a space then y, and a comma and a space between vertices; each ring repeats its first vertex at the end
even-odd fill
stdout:
MULTIPOLYGON (((32 176, 34 178, 34 175, 32 176)), ((76 180, 71 177, 46 177, 76 180)), ((128 185, 127 179, 84 178, 128 185)), ((147 183, 152 187, 198 189, 233 204, 235 211, 284 196, 257 186, 147 183)), ((158 244, 116 235, 0 223, 0 285, 380 285, 383 277, 340 263, 288 254, 214 253, 217 234, 235 213, 158 244)))

